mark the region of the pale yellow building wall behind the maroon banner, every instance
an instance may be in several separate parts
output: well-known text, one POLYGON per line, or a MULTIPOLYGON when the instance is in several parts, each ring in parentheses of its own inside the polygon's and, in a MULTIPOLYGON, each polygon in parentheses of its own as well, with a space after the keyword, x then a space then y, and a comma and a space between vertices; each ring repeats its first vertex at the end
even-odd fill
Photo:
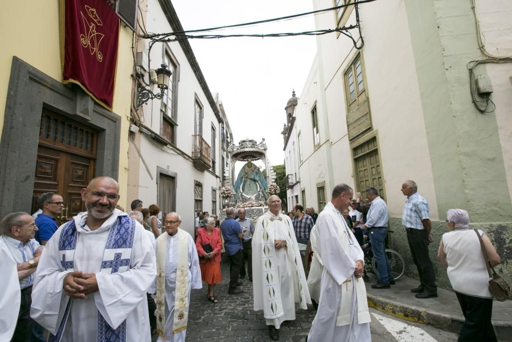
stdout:
MULTIPOLYGON (((9 86, 12 57, 17 56, 31 66, 62 81, 60 67, 59 2, 4 2, 0 12, 0 127, 4 124, 4 108, 9 86)), ((132 31, 121 25, 114 90, 113 112, 120 115, 119 151, 120 204, 126 198, 127 132, 132 89, 132 31)), ((27 94, 31 96, 31 94, 27 94)), ((19 113, 23 115, 23 113, 19 113)), ((0 134, 1 130, 0 130, 0 134)), ((37 132, 34 132, 37 134, 37 132)))

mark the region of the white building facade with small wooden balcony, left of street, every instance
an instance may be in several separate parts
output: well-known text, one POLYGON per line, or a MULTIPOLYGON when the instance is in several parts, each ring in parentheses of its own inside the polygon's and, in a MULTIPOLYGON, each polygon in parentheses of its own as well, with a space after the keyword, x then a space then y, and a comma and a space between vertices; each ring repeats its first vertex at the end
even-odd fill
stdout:
MULTIPOLYGON (((148 0, 141 6, 146 6, 146 32, 183 31, 169 1, 148 0)), ((136 69, 165 63, 173 74, 163 98, 148 101, 132 115, 127 204, 136 198, 146 208, 157 204, 162 217, 176 211, 181 228, 194 236, 195 212, 215 215, 221 208, 222 133, 226 127, 231 132, 222 103, 208 89, 188 41, 155 43, 149 55, 148 43, 139 41, 136 69)))

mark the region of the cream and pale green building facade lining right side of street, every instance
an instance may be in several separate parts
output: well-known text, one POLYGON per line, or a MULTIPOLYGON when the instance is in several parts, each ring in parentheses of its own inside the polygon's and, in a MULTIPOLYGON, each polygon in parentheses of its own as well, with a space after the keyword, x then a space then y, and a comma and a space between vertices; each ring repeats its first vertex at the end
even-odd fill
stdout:
MULTIPOLYGON (((373 186, 390 210, 393 247, 410 258, 400 187, 413 179, 430 204, 437 242, 431 255, 450 208, 467 210, 472 224, 495 236, 498 252, 506 254, 512 227, 510 15, 506 1, 437 0, 372 2, 316 15, 316 29, 356 28, 354 42, 341 33, 317 37, 295 108, 308 207, 322 210, 339 183, 363 196, 373 186)), ((511 273, 510 267, 503 271, 511 273)))

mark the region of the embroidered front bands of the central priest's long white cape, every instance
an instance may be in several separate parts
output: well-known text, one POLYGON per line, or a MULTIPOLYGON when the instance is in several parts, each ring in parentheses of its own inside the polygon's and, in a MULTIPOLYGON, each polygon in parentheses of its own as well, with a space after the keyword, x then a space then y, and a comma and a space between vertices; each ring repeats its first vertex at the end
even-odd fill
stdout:
MULTIPOLYGON (((304 293, 304 287, 302 285, 302 275, 298 269, 297 255, 298 251, 295 251, 295 240, 292 236, 295 235, 293 226, 290 225, 288 220, 284 217, 279 218, 268 217, 264 214, 261 216, 262 219, 262 288, 263 288, 263 314, 267 319, 278 318, 284 315, 283 304, 281 301, 281 285, 279 283, 279 275, 277 273, 276 264, 278 261, 275 259, 275 247, 274 247, 274 229, 276 225, 285 225, 287 227, 286 232, 286 249, 289 260, 293 260, 292 267, 296 281, 295 288, 300 294, 301 308, 306 309, 306 295, 304 293)), ((283 215, 284 216, 284 215, 283 215)), ((288 264, 289 266, 290 264, 288 264)), ((285 289, 290 291, 291 289, 285 289)))

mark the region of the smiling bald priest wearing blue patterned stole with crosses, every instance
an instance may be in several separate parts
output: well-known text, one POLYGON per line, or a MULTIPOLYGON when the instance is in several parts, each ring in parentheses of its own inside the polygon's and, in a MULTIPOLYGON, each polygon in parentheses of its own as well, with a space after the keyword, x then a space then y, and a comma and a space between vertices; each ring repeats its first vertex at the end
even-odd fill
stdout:
POLYGON ((37 267, 30 314, 49 341, 151 341, 146 291, 156 275, 144 228, 115 209, 110 177, 81 190, 87 212, 59 227, 37 267))

